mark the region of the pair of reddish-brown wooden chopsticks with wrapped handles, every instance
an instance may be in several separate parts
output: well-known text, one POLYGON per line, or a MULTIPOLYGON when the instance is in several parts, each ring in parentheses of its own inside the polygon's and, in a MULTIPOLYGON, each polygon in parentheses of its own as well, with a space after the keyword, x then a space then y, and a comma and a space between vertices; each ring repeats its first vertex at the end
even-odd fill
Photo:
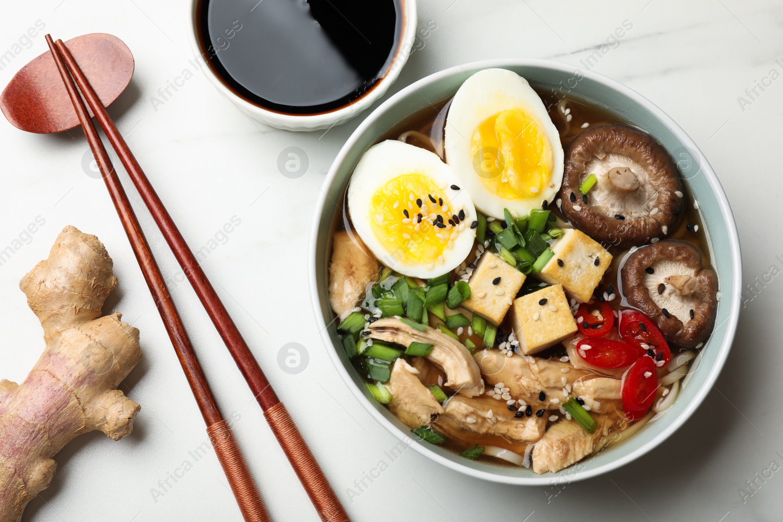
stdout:
POLYGON ((157 267, 150 246, 139 225, 139 220, 136 218, 128 196, 121 185, 120 178, 114 171, 106 148, 103 146, 98 131, 96 131, 79 95, 80 91, 117 152, 117 157, 120 158, 132 182, 139 190, 144 203, 150 209, 158 228, 161 229, 168 246, 171 247, 179 265, 182 266, 193 290, 196 290, 201 304, 204 305, 207 314, 215 324, 215 328, 218 329, 218 333, 226 343, 226 347, 231 352, 240 372, 251 387, 258 404, 261 405, 269 427, 272 428, 272 432, 307 491, 319 517, 328 522, 349 522, 348 513, 345 512, 337 495, 334 494, 334 490, 332 490, 305 440, 301 437, 293 419, 280 399, 277 398, 275 391, 272 390, 272 386, 258 366, 258 362, 253 357, 250 348, 247 347, 239 329, 236 328, 226 307, 223 306, 196 257, 193 256, 193 252, 155 193, 150 180, 139 167, 139 163, 128 148, 128 144, 125 143, 109 114, 106 113, 98 95, 90 86, 63 41, 52 41, 52 37, 47 34, 46 42, 52 51, 52 56, 60 71, 60 76, 63 78, 70 100, 74 104, 74 109, 78 113, 81 127, 84 128, 87 141, 103 175, 103 181, 106 182, 106 188, 109 189, 114 207, 117 209, 125 233, 128 235, 136 260, 139 261, 139 266, 142 268, 147 286, 150 287, 150 292, 166 326, 168 336, 171 338, 171 343, 177 352, 177 357, 201 410, 201 415, 204 416, 204 422, 207 423, 207 434, 215 447, 215 453, 226 473, 244 519, 248 521, 269 520, 269 514, 266 512, 261 495, 258 494, 258 488, 256 488, 231 429, 226 420, 222 418, 215 397, 193 351, 193 346, 190 344, 182 319, 179 317, 174 301, 171 300, 171 294, 164 283, 161 271, 157 267), (74 80, 78 85, 78 90, 74 85, 74 80))

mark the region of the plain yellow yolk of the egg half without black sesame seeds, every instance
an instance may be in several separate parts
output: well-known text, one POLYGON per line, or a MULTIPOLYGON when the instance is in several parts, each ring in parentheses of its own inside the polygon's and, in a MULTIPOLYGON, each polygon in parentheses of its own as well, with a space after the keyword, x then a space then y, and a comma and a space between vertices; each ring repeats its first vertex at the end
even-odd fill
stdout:
POLYGON ((524 110, 503 110, 482 121, 473 132, 471 155, 485 187, 504 200, 534 197, 550 183, 552 146, 524 110))

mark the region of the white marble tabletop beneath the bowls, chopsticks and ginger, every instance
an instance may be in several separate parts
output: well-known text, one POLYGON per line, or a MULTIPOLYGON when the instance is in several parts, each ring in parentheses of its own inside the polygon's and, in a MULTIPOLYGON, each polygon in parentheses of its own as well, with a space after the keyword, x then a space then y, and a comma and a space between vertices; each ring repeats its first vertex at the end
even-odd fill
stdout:
MULTIPOLYGON (((207 247, 207 274, 354 520, 781 520, 783 3, 593 3, 422 0, 419 23, 431 31, 395 85, 476 59, 587 64, 678 121, 715 167, 734 207, 749 286, 734 351, 716 388, 655 452, 560 489, 473 480, 414 452, 389 459, 396 439, 364 412, 334 371, 309 303, 309 232, 323 176, 361 116, 327 133, 254 124, 189 62, 184 0, 7 2, 0 16, 0 84, 45 51, 43 33, 22 36, 36 24, 55 38, 103 31, 128 44, 135 77, 110 112, 186 239, 196 249, 207 247), (608 40, 624 22, 632 26, 626 35, 608 40), (189 79, 154 103, 161 101, 159 89, 179 76, 189 79), (298 178, 281 175, 276 166, 290 146, 309 158, 298 178), (232 220, 239 224, 222 236, 232 220), (278 364, 288 343, 309 355, 308 365, 293 375, 278 364), (364 473, 381 460, 388 469, 371 484, 364 479, 367 487, 359 491, 364 473)), ((68 445, 57 456, 52 486, 31 502, 24 520, 241 520, 214 452, 204 445, 204 424, 106 189, 89 168, 81 132, 28 135, 2 120, 0 143, 0 250, 14 245, 0 266, 0 377, 23 380, 40 354, 40 327, 17 284, 69 224, 106 243, 121 282, 110 308, 141 329, 144 351, 122 386, 143 406, 133 434, 114 442, 93 433, 68 445), (45 224, 15 243, 37 218, 45 224), (202 445, 206 449, 194 459, 202 445), (191 465, 184 470, 186 461, 191 465)), ((149 214, 136 208, 218 401, 236 420, 272 517, 316 520, 149 214)))

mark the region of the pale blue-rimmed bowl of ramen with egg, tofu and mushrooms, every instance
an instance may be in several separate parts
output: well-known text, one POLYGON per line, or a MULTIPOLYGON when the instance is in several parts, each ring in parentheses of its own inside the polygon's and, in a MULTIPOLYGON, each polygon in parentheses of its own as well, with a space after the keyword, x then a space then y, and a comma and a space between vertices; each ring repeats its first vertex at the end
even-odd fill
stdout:
POLYGON ((506 484, 582 480, 698 408, 739 313, 731 209, 665 113, 590 71, 471 63, 374 110, 323 186, 327 351, 417 452, 506 484))

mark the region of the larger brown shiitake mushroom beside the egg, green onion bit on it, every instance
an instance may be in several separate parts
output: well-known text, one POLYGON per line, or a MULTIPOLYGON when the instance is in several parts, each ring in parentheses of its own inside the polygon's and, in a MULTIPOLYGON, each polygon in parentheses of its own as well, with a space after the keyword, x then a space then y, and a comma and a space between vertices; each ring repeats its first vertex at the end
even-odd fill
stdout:
POLYGON ((673 232, 682 189, 669 153, 627 125, 587 128, 565 150, 561 210, 604 247, 644 245, 673 232), (579 187, 590 174, 597 182, 583 198, 579 187))

